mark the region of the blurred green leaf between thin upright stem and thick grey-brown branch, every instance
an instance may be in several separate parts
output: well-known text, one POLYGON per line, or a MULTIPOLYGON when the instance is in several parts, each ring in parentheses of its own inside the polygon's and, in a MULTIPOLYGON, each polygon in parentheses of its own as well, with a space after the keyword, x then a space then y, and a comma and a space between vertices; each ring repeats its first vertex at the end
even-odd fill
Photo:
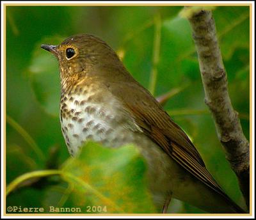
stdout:
POLYGON ((194 49, 195 45, 188 20, 180 17, 165 20, 162 26, 157 84, 170 90, 186 81, 200 79, 198 61, 194 58, 194 49), (193 59, 191 55, 193 55, 193 59))

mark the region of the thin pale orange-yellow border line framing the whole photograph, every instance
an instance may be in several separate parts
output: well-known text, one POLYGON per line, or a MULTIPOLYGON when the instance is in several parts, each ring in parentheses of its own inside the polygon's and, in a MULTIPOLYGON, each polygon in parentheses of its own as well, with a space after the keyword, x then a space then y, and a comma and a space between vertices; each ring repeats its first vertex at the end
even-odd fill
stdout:
MULTIPOLYGON (((249 214, 8 214, 6 213, 6 6, 249 6, 250 7, 250 152, 252 152, 252 3, 237 3, 237 4, 197 4, 197 3, 187 3, 187 4, 136 4, 136 3, 124 3, 124 4, 114 4, 114 3, 93 3, 93 4, 56 4, 56 3, 45 3, 45 4, 17 4, 17 3, 4 3, 3 4, 3 22, 4 22, 4 45, 3 45, 3 52, 4 52, 4 73, 3 73, 3 95, 4 95, 4 213, 3 216, 252 216, 252 166, 250 166, 250 213, 249 214)), ((250 153, 250 165, 252 165, 252 154, 250 153)))

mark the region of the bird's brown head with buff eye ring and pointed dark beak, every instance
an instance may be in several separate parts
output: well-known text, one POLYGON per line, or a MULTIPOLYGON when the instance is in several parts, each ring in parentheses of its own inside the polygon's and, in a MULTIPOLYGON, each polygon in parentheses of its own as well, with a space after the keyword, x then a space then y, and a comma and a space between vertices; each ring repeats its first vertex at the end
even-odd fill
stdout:
POLYGON ((85 75, 111 78, 112 75, 124 74, 125 68, 115 51, 96 36, 74 35, 60 45, 42 44, 41 47, 58 58, 61 81, 85 75))

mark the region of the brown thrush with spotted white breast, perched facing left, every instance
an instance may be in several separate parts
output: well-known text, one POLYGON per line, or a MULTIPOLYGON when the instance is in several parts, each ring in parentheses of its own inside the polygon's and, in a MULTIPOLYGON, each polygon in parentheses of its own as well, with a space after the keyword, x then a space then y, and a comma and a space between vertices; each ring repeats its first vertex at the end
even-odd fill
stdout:
POLYGON ((58 59, 60 122, 70 155, 89 140, 109 148, 132 143, 145 158, 148 189, 159 212, 166 213, 176 198, 209 213, 246 213, 214 180, 184 130, 106 42, 77 34, 41 47, 58 59))

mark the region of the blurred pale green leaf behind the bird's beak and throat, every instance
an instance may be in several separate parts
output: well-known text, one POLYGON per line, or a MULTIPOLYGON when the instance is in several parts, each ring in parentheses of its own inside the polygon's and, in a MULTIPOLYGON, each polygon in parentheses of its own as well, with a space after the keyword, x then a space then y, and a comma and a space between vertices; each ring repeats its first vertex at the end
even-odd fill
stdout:
POLYGON ((53 36, 43 38, 33 52, 29 73, 36 100, 43 109, 52 116, 59 115, 60 74, 58 61, 54 56, 40 48, 42 43, 58 44, 63 37, 53 36))

